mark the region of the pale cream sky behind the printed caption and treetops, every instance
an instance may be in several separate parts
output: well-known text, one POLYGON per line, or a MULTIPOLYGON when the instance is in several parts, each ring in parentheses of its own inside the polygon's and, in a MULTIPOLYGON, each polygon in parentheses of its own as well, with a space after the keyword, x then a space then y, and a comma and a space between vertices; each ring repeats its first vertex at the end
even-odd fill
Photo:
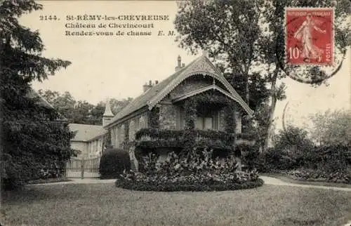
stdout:
MULTIPOLYGON (((63 93, 69 91, 76 100, 96 104, 106 98, 135 98, 143 93, 143 84, 152 80, 161 81, 175 72, 178 55, 187 65, 199 55, 191 55, 178 46, 173 21, 177 13, 176 1, 38 1, 42 11, 34 11, 20 18, 22 25, 39 30, 46 50, 43 56, 69 60, 72 65, 61 69, 46 81, 32 84, 35 90, 50 89, 63 93), (67 20, 68 18, 114 17, 124 19, 136 15, 162 15, 168 20, 67 20), (45 20, 58 18, 59 20, 45 20), (81 16, 81 17, 79 17, 81 16), (42 20, 41 20, 42 19, 42 20), (82 23, 107 28, 67 28, 82 23), (151 28, 109 28, 110 23, 119 25, 140 24, 151 28), (152 25, 151 25, 152 24, 152 25), (72 36, 66 32, 124 32, 113 36, 72 36), (127 32, 152 32, 150 36, 128 36, 127 32), (159 31, 163 34, 158 36, 159 31)), ((201 53, 199 53, 201 54, 201 53)), ((328 80, 329 86, 312 88, 289 77, 286 84, 287 98, 277 103, 276 126, 282 128, 282 112, 286 102, 286 118, 291 124, 301 126, 306 117, 327 109, 350 109, 351 79, 350 50, 340 71, 328 80)))

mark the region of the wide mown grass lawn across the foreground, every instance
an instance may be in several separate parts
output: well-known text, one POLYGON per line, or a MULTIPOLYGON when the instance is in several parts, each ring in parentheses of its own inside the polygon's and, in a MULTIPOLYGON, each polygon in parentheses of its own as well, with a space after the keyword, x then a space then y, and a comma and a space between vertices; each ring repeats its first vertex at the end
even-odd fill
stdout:
POLYGON ((1 196, 1 225, 343 225, 351 192, 263 185, 228 192, 135 192, 37 185, 1 196))

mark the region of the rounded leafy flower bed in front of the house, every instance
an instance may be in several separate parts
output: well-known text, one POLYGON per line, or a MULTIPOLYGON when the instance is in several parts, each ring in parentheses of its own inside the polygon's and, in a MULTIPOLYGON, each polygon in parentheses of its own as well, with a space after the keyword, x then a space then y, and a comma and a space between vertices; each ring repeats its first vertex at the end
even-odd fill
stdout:
POLYGON ((116 181, 117 187, 140 191, 223 191, 240 190, 263 185, 256 171, 236 171, 237 162, 211 159, 212 152, 189 153, 178 157, 172 152, 167 161, 159 163, 155 154, 144 159, 141 173, 124 172, 116 181))

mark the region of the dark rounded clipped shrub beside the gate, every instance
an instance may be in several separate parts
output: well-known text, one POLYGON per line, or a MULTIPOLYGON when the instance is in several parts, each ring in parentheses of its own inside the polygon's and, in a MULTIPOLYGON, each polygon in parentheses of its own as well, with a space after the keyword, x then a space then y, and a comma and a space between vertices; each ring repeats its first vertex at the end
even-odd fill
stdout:
POLYGON ((123 149, 106 149, 100 159, 100 178, 118 178, 124 170, 131 169, 131 159, 123 149))

